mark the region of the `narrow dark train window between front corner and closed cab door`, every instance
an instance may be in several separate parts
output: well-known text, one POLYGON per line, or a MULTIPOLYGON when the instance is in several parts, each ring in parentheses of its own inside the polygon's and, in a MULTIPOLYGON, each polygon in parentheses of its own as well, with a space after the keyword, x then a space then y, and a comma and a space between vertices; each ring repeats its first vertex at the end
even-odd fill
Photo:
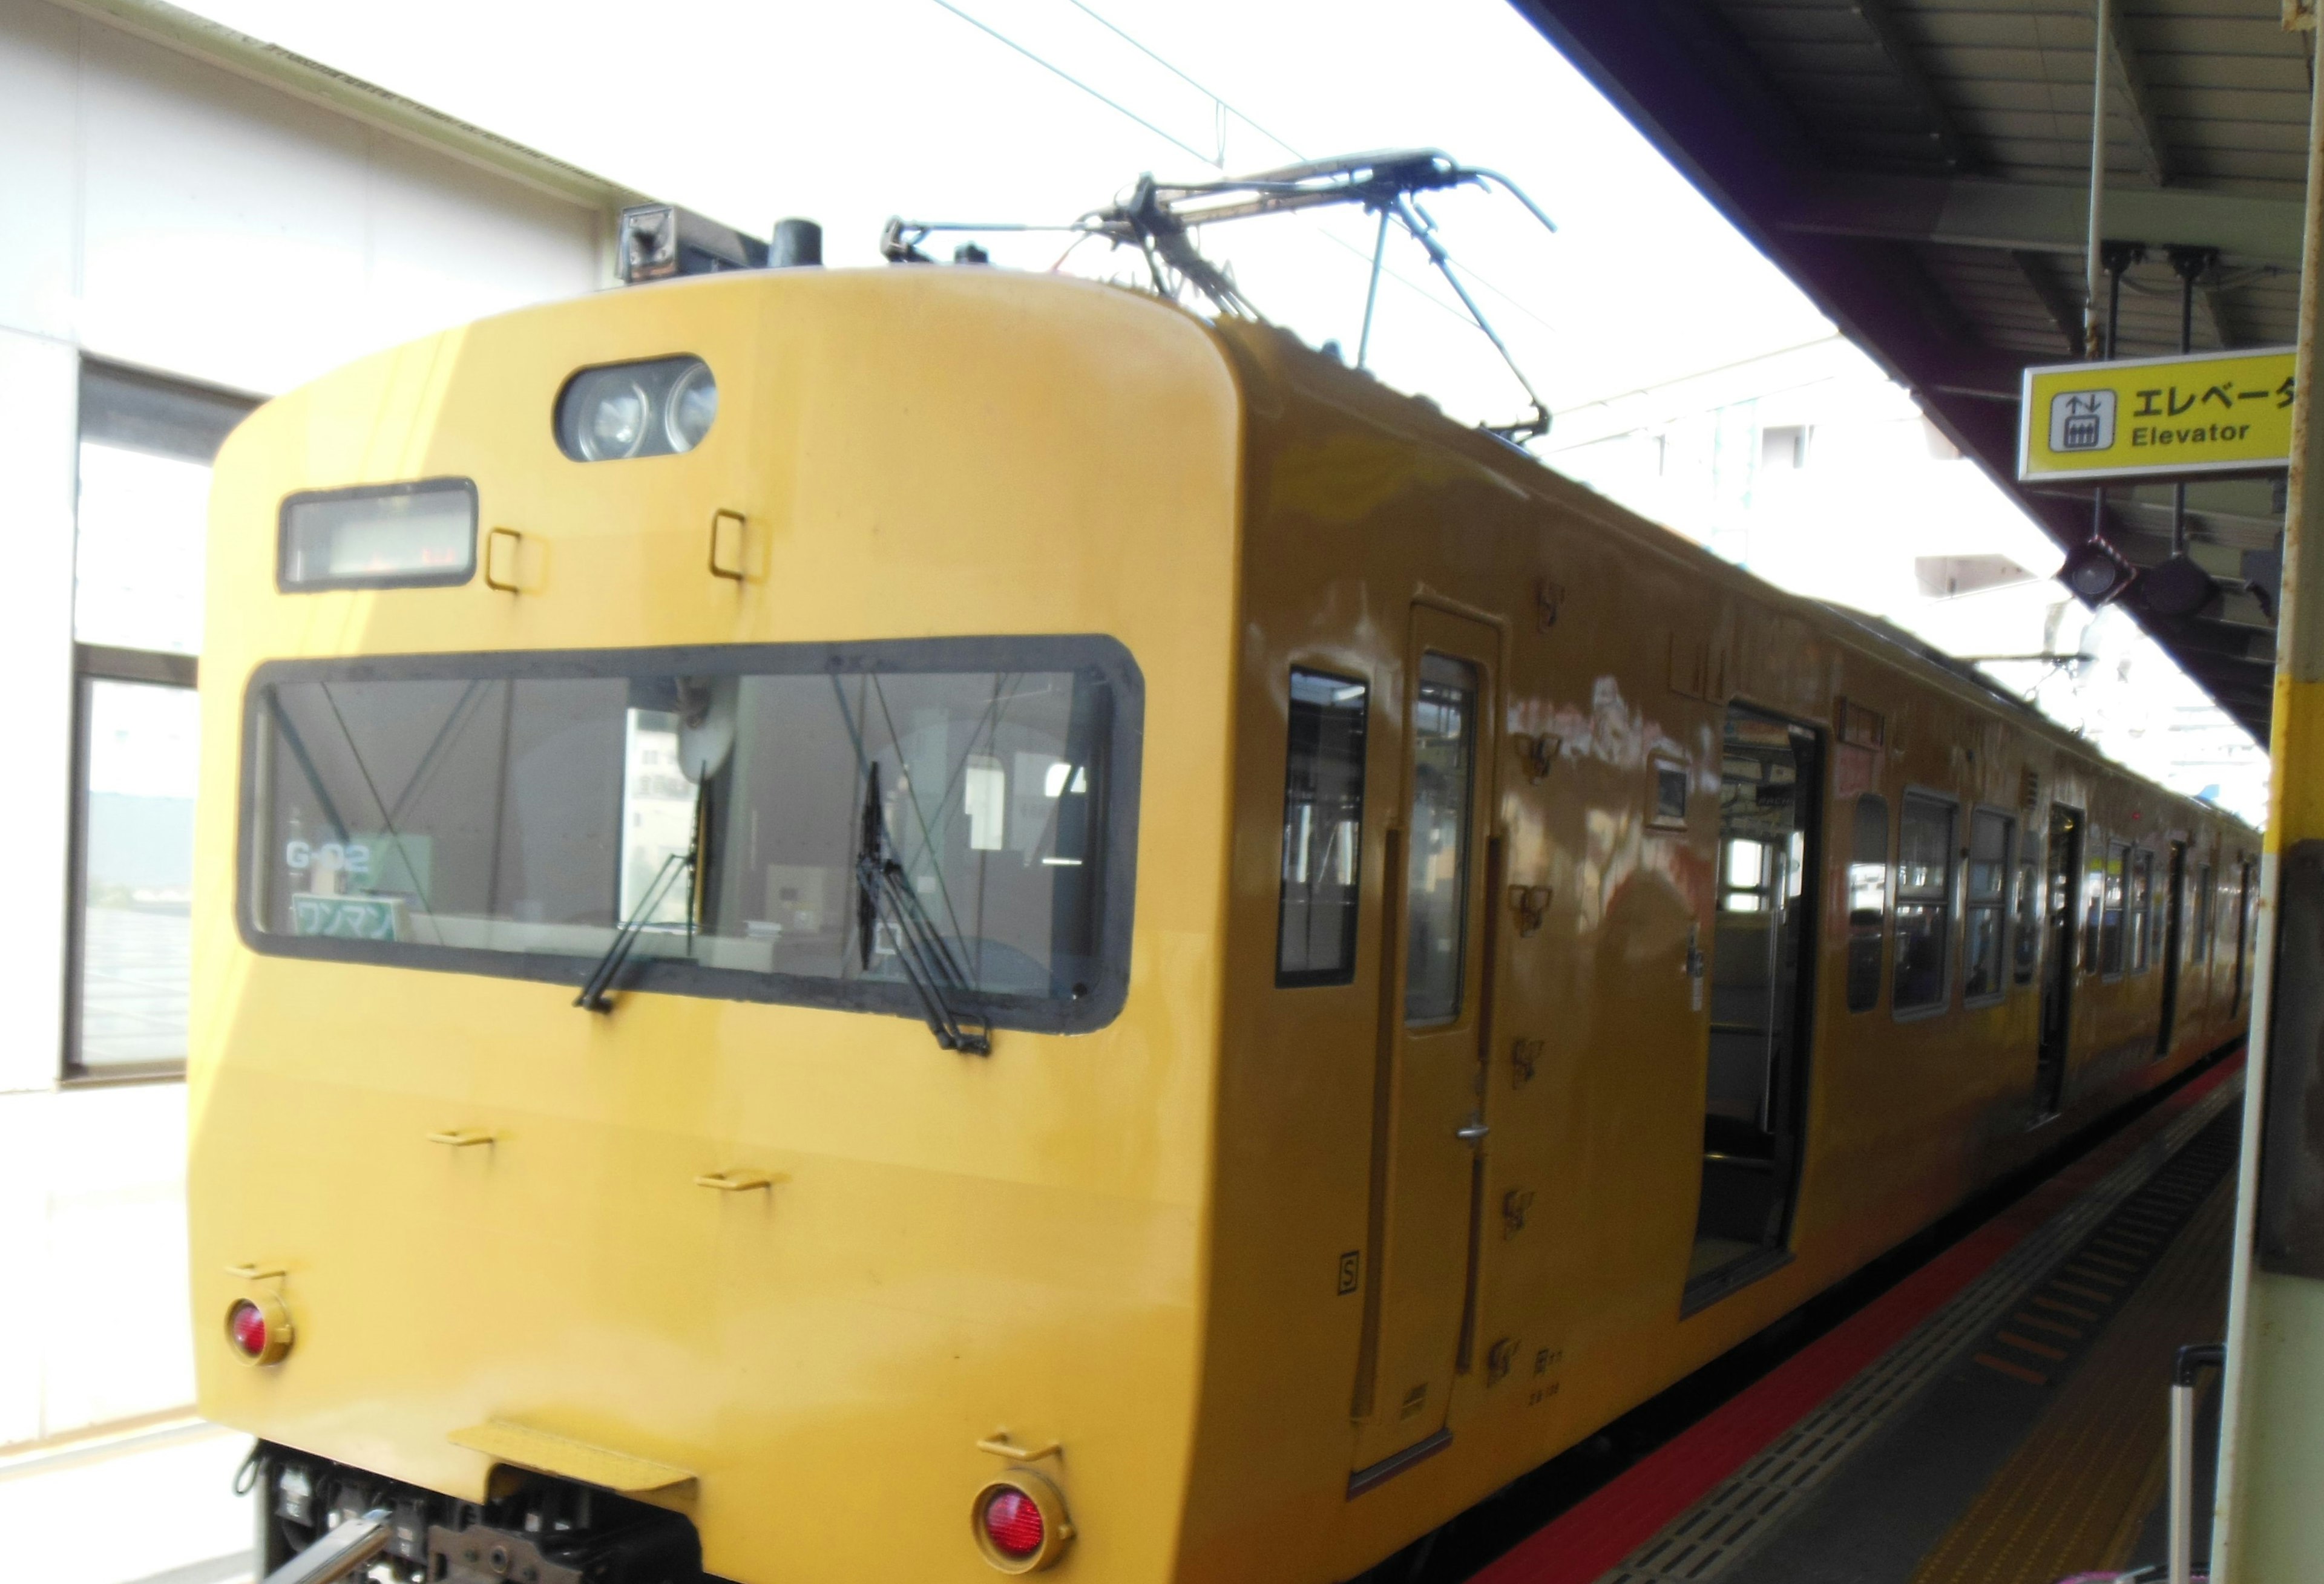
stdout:
POLYGON ((1355 978, 1369 701, 1355 678, 1292 669, 1276 985, 1355 978))

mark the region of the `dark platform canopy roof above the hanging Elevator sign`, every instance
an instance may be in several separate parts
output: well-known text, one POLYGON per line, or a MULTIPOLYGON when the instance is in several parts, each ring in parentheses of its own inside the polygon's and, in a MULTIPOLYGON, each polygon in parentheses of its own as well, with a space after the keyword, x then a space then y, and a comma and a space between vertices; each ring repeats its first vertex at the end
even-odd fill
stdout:
MULTIPOLYGON (((2089 488, 2013 481, 2027 365, 2082 344, 2094 0, 1513 0, 1964 453, 2061 543, 2089 488)), ((2108 239, 2117 355, 2282 346, 2298 316, 2310 53, 2280 0, 2117 0, 2108 239)), ((1715 288, 1710 288, 1715 290, 1715 288)), ((1866 502, 1878 511, 1878 502, 1866 502)), ((2261 743, 2282 571, 2280 478, 2187 485, 2215 597, 2138 620, 2261 743)), ((2106 537, 2171 553, 2171 485, 2115 485, 2106 537)))

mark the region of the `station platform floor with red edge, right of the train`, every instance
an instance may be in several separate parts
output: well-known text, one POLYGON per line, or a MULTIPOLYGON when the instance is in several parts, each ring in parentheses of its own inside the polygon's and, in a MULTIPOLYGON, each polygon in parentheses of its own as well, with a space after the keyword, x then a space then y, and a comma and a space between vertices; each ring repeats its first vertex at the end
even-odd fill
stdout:
MULTIPOLYGON (((2231 1052, 1469 1577, 2161 1577, 2171 1363, 2226 1324, 2240 1094, 2231 1052)), ((2199 1403, 2208 1517, 2215 1373, 2199 1403)))

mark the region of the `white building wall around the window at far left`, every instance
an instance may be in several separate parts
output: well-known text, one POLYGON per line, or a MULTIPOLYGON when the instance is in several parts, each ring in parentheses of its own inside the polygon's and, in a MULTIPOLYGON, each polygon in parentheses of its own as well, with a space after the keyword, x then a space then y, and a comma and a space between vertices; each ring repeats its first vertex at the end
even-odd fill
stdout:
MULTIPOLYGON (((611 262, 604 202, 149 33, 0 0, 0 1268, 23 1296, 0 1305, 0 1452, 193 1398, 184 1082, 167 1059, 107 1075, 67 1038, 84 362, 265 397, 611 262)), ((149 532, 202 532, 181 516, 149 532)), ((151 643, 191 669, 186 641, 151 643)))

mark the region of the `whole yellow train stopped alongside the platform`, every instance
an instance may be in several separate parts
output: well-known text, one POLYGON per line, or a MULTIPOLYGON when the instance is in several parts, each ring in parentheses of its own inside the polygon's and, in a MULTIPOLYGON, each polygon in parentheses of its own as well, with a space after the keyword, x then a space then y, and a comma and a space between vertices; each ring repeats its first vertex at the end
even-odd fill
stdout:
POLYGON ((2243 1024, 2250 829, 1109 286, 370 358, 209 602, 270 1568, 1346 1579, 2243 1024))

